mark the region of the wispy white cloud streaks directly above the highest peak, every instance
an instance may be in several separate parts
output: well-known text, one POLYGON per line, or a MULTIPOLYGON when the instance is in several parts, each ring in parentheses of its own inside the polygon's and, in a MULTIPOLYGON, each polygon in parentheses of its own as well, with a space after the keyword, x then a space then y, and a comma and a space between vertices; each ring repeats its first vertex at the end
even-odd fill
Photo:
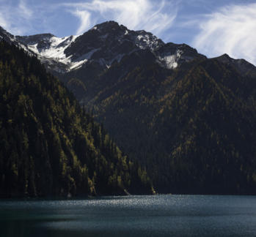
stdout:
POLYGON ((160 34, 172 26, 177 15, 177 7, 170 1, 150 0, 92 0, 87 3, 65 4, 73 15, 81 20, 77 34, 84 33, 100 20, 116 20, 128 29, 145 29, 160 34))

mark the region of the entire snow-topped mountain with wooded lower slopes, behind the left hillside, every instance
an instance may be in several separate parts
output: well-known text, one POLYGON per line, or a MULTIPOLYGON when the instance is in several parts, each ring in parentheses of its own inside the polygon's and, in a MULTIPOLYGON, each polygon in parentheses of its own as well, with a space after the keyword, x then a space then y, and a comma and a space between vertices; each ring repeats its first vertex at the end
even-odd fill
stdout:
POLYGON ((256 194, 254 65, 227 54, 207 59, 113 21, 70 44, 32 37, 12 40, 37 55, 129 159, 147 168, 157 192, 256 194))

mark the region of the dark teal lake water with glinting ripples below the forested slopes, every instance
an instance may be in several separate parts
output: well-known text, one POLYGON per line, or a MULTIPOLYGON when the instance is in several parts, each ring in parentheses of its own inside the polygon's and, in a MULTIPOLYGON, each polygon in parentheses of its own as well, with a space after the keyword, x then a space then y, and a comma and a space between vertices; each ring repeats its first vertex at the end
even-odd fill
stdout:
POLYGON ((0 200, 1 237, 256 236, 256 197, 0 200))

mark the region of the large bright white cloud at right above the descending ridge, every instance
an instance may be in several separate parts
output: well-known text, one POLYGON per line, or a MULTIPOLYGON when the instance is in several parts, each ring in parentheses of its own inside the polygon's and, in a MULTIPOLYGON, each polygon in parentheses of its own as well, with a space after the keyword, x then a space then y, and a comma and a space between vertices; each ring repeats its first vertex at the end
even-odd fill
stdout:
POLYGON ((223 7, 205 17, 192 43, 200 53, 208 57, 227 53, 256 65, 256 4, 223 7))

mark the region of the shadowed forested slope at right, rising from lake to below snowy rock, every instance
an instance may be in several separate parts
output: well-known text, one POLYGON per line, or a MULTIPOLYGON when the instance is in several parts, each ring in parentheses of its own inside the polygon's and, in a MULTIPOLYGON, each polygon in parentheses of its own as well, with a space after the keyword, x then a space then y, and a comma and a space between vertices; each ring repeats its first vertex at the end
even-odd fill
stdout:
POLYGON ((142 64, 88 108, 147 168, 158 192, 256 194, 255 77, 213 59, 142 64))

